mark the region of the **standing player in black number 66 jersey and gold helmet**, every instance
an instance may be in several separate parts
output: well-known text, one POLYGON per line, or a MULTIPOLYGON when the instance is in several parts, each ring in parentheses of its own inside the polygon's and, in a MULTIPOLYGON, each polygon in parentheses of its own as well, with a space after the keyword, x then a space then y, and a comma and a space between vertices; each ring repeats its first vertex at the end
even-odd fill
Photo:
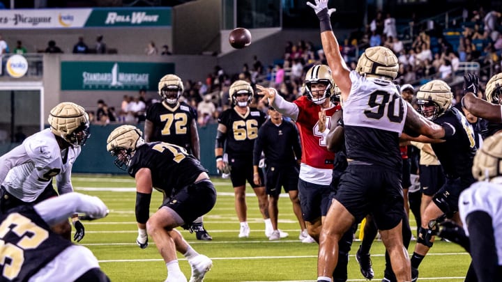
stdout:
MULTIPOLYGON (((268 198, 263 184, 254 184, 252 167, 254 140, 257 139, 258 130, 266 120, 265 113, 250 107, 254 91, 248 81, 235 81, 231 84, 229 93, 232 107, 218 117, 215 143, 216 168, 222 173, 230 173, 231 170, 235 208, 241 224, 238 237, 250 235, 248 206, 245 201, 246 181, 258 198, 259 210, 265 221, 265 235, 270 237, 273 227, 268 216, 268 198), (225 159, 224 148, 227 155, 225 159)), ((260 183, 264 183, 262 171, 259 171, 259 178, 260 183)))

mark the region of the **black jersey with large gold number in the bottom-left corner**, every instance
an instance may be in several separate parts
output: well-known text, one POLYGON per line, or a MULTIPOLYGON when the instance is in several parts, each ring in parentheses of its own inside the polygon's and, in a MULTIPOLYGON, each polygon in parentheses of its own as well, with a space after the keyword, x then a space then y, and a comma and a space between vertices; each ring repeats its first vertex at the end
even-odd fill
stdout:
POLYGON ((30 205, 0 215, 0 281, 28 281, 72 243, 50 230, 30 205))

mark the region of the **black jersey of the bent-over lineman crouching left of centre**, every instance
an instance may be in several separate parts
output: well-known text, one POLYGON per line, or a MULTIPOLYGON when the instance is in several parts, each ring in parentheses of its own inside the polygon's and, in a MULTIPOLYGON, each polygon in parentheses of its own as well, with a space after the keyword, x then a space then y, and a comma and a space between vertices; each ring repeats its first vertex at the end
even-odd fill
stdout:
POLYGON ((164 191, 166 196, 193 184, 200 173, 207 172, 185 148, 164 142, 146 143, 137 148, 128 172, 135 177, 142 168, 150 169, 153 187, 164 191))

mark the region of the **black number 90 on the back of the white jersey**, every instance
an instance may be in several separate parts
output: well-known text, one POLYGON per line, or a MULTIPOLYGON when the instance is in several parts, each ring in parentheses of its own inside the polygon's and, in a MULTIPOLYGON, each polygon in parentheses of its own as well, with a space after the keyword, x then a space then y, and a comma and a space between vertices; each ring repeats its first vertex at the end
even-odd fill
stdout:
POLYGON ((367 118, 379 120, 387 111, 387 118, 390 122, 401 123, 404 116, 404 104, 401 97, 398 95, 390 97, 390 93, 385 91, 374 91, 371 93, 368 106, 372 107, 372 111, 364 111, 367 118), (392 100, 390 100, 391 98, 392 100))

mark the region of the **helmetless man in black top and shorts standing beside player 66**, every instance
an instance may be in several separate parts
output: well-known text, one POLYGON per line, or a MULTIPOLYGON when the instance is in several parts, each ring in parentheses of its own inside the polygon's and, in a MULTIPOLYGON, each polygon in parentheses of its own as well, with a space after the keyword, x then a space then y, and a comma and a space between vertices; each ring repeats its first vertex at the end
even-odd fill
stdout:
MULTIPOLYGON (((289 194, 293 203, 293 211, 300 224, 300 238, 305 238, 307 229, 302 218, 300 199, 298 198, 298 164, 301 160, 301 145, 298 130, 293 123, 282 119, 282 114, 273 107, 268 109, 270 119, 258 131, 254 141, 253 171, 254 184, 261 185, 259 178, 259 162, 261 153, 265 156, 265 186, 268 194, 268 214, 270 214, 273 233, 268 240, 279 240, 280 230, 277 227, 277 201, 282 187, 289 194)), ((303 239, 302 239, 303 240, 303 239)))

